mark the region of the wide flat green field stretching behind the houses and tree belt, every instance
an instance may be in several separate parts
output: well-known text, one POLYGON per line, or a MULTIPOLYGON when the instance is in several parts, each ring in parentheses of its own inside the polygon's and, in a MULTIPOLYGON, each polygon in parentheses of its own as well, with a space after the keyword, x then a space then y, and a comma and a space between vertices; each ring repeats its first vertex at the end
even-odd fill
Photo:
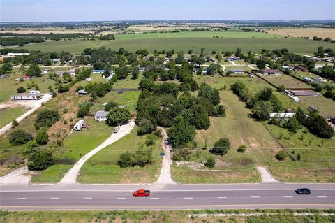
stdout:
MULTIPOLYGON (((243 33, 249 35, 248 33, 243 33)), ((270 34, 269 34, 270 35, 270 34)), ((135 38, 135 35, 133 35, 135 38)), ((260 52, 261 49, 267 50, 288 48, 290 52, 301 54, 313 54, 318 46, 335 50, 334 44, 323 41, 311 41, 297 38, 143 38, 143 39, 124 39, 114 41, 45 41, 44 43, 25 45, 27 50, 41 50, 42 52, 60 52, 66 51, 75 55, 80 55, 85 48, 99 48, 105 46, 112 50, 118 50, 120 47, 125 50, 135 52, 135 50, 147 49, 149 52, 154 50, 193 50, 193 53, 199 53, 201 48, 205 48, 209 53, 212 50, 220 52, 222 50, 236 50, 241 48, 243 52, 260 52)))

